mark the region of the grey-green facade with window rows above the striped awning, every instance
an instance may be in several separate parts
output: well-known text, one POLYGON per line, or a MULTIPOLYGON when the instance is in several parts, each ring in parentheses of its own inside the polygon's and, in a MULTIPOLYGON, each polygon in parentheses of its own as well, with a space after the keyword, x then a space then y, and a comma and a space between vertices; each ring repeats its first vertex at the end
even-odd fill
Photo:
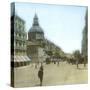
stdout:
POLYGON ((14 26, 14 54, 25 55, 26 54, 26 38, 25 22, 18 16, 15 16, 14 26))

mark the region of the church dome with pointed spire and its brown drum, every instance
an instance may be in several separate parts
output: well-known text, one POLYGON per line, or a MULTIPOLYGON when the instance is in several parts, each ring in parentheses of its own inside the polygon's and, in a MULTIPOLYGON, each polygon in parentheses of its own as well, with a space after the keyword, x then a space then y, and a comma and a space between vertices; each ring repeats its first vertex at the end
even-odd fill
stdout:
POLYGON ((37 14, 35 14, 32 27, 28 32, 28 40, 32 42, 42 42, 44 40, 44 32, 39 25, 37 14))

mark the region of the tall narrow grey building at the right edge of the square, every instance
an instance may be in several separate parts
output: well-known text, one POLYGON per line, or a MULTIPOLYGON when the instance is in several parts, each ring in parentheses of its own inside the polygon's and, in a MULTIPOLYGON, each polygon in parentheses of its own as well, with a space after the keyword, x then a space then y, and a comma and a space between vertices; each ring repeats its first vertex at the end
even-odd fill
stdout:
POLYGON ((83 57, 88 56, 88 10, 86 11, 85 27, 84 27, 84 30, 83 30, 82 55, 83 55, 83 57))

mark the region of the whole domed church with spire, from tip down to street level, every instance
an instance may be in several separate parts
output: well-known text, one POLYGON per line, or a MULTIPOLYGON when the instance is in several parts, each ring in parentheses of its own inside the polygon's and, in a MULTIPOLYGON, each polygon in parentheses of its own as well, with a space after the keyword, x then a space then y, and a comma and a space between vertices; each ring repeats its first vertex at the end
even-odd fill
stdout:
POLYGON ((40 27, 37 14, 33 18, 33 24, 28 32, 27 55, 32 59, 32 62, 45 61, 44 53, 44 31, 40 27))

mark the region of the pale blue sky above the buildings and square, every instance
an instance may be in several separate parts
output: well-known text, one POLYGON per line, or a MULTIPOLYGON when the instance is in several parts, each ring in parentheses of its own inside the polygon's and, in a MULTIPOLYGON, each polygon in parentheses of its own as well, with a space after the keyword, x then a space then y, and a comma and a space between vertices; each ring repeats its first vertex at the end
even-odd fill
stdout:
POLYGON ((85 6, 16 3, 15 12, 25 20, 27 32, 32 26, 36 13, 45 38, 54 42, 66 53, 81 51, 85 6))

